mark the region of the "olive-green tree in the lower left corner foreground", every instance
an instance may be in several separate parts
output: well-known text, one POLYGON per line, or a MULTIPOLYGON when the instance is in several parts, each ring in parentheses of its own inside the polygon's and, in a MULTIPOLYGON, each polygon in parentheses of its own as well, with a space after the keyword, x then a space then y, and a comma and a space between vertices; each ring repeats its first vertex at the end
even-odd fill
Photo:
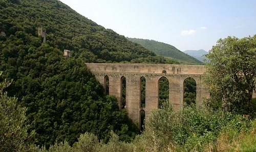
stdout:
POLYGON ((17 104, 17 98, 3 92, 11 82, 7 79, 0 82, 0 151, 29 151, 25 143, 30 137, 25 122, 26 108, 17 104))

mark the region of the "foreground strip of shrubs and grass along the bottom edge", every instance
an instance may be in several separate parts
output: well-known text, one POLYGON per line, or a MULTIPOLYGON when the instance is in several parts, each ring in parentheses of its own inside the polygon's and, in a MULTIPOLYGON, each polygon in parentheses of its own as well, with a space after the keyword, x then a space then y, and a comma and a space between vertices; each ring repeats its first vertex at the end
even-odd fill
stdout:
POLYGON ((151 112, 145 132, 126 143, 111 132, 108 143, 93 133, 80 135, 70 146, 68 141, 39 147, 25 141, 27 134, 26 108, 16 104, 17 99, 7 97, 0 83, 1 151, 255 151, 256 120, 248 116, 223 111, 210 111, 204 106, 184 106, 175 111, 172 104, 164 103, 151 112))

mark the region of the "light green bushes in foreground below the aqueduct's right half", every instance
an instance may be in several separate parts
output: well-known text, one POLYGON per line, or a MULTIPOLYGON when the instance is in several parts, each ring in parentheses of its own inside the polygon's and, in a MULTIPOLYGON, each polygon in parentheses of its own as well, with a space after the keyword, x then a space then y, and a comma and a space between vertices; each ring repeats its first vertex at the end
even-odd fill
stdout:
POLYGON ((251 125, 246 117, 204 106, 174 111, 172 105, 163 104, 152 111, 145 133, 136 138, 143 145, 138 151, 216 151, 223 131, 242 133, 250 131, 251 125))

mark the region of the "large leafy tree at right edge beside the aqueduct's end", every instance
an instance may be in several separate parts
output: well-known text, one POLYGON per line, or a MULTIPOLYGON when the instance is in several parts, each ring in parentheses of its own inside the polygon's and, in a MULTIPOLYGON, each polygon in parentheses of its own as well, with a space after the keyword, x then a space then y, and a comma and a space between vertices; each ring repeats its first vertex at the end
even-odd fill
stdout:
POLYGON ((229 112, 249 114, 256 84, 256 35, 219 39, 205 57, 209 105, 219 103, 229 112))

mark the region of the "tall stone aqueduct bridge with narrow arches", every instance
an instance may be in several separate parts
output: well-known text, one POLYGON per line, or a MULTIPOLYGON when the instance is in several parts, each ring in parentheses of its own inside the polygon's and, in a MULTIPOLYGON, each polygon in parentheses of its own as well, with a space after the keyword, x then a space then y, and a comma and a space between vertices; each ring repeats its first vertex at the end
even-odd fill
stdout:
POLYGON ((145 77, 145 117, 153 108, 158 107, 159 79, 166 77, 169 80, 169 102, 174 106, 183 105, 183 83, 188 77, 194 78, 197 83, 197 101, 208 97, 201 84, 204 66, 177 65, 177 64, 132 64, 132 63, 86 63, 95 77, 106 89, 106 79, 109 77, 109 94, 115 95, 119 106, 122 99, 122 77, 126 79, 126 111, 134 122, 140 121, 141 108, 141 78, 145 77))

